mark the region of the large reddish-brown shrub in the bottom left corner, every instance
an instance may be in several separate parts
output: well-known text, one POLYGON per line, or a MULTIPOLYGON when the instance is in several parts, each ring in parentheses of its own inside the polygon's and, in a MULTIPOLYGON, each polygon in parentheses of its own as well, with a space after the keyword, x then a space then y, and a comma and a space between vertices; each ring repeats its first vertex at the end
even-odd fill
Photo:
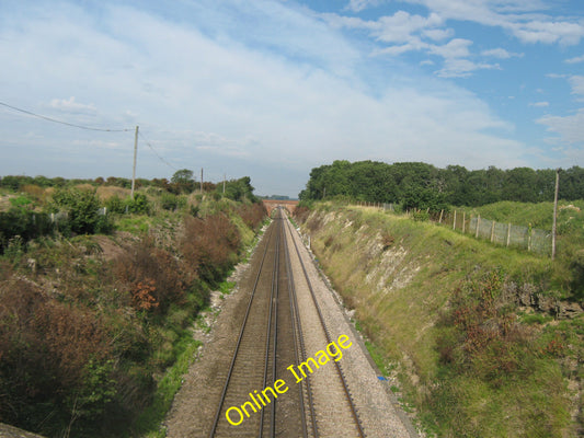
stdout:
POLYGON ((107 331, 24 279, 3 281, 0 303, 0 420, 33 424, 82 391, 91 360, 111 357, 107 331))

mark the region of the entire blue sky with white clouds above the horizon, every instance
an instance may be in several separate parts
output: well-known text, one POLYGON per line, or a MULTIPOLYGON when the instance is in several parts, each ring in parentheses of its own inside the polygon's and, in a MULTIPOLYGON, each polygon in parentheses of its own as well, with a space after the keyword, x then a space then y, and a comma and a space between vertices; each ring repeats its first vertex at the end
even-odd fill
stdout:
POLYGON ((259 195, 334 160, 584 165, 582 0, 0 0, 0 175, 131 177, 136 126, 138 177, 259 195))

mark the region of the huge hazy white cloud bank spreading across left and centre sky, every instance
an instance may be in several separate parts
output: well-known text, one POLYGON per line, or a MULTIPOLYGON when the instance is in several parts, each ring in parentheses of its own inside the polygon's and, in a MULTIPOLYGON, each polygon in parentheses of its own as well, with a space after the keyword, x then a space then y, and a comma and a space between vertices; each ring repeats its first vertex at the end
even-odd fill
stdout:
MULTIPOLYGON (((93 126, 139 124, 169 162, 205 165, 206 172, 215 169, 219 174, 226 166, 228 174, 242 169, 254 181, 263 174, 256 169, 273 169, 298 189, 306 175, 290 181, 289 172, 308 174, 311 166, 337 158, 437 165, 456 160, 469 168, 483 168, 485 162, 505 168, 526 164, 526 146, 509 139, 513 126, 474 94, 449 81, 427 81, 398 68, 392 82, 385 80, 376 93, 369 93, 357 71, 363 60, 359 51, 322 16, 302 15, 283 2, 257 1, 260 5, 227 1, 237 13, 225 4, 217 7, 215 0, 184 3, 198 8, 197 13, 174 20, 170 12, 164 19, 115 2, 105 2, 99 20, 71 3, 28 7, 18 23, 7 13, 0 18, 0 64, 10 66, 0 69, 4 99, 31 110, 54 100, 61 108, 93 107, 99 118, 93 126), (265 8, 260 11, 261 7, 265 8), (247 36, 238 19, 257 23, 257 35, 247 36), (257 43, 271 33, 273 41, 257 43)), ((469 39, 442 46, 425 41, 432 37, 424 32, 444 25, 438 14, 339 23, 393 42, 386 48, 417 49, 444 58, 437 72, 442 77, 497 68, 466 59, 469 39)), ((0 163, 0 172, 20 171, 19 157, 22 163, 28 163, 31 155, 44 160, 50 153, 47 150, 64 163, 69 152, 77 151, 91 161, 91 172, 127 174, 131 169, 130 161, 117 164, 119 158, 131 158, 131 135, 98 139, 110 148, 105 166, 101 151, 91 148, 98 134, 75 131, 72 137, 80 142, 73 143, 68 128, 28 119, 22 125, 26 129, 19 130, 0 115, 5 145, 24 143, 23 132, 42 134, 50 141, 28 142, 23 154, 0 163)), ((150 155, 148 150, 140 155, 142 175, 147 169, 151 174, 161 172, 156 158, 148 161, 150 155)), ((71 172, 70 165, 64 166, 71 172)))

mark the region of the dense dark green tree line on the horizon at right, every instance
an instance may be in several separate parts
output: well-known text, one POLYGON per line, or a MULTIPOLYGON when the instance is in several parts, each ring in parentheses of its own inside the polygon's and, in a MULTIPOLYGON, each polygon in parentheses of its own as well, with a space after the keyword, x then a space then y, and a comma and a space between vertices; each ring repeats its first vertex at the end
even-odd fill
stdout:
MULTIPOLYGON (((501 200, 553 200, 556 170, 515 168, 469 171, 461 165, 439 169, 422 162, 334 161, 312 169, 300 200, 345 197, 394 203, 405 209, 481 206, 501 200)), ((560 199, 584 199, 584 169, 560 171, 560 199)))

